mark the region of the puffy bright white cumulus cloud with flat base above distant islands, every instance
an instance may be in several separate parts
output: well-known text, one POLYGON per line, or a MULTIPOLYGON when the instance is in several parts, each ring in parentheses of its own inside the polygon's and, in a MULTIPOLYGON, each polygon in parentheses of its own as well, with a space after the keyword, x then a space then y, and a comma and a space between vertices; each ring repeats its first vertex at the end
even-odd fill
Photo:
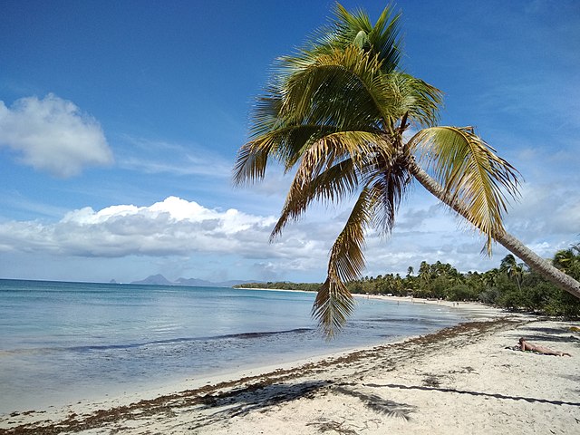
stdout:
POLYGON ((121 257, 244 253, 266 244, 274 218, 236 209, 209 209, 169 197, 149 207, 82 208, 59 222, 0 224, 0 250, 47 251, 66 256, 121 257))

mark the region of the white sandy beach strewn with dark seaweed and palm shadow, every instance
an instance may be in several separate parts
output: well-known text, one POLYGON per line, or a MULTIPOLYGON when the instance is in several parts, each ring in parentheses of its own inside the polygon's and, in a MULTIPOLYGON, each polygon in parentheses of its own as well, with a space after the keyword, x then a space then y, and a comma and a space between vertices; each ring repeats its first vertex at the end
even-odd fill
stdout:
POLYGON ((479 318, 293 367, 14 413, 0 433, 580 433, 578 325, 461 309, 479 318), (572 356, 521 352, 519 337, 572 356))

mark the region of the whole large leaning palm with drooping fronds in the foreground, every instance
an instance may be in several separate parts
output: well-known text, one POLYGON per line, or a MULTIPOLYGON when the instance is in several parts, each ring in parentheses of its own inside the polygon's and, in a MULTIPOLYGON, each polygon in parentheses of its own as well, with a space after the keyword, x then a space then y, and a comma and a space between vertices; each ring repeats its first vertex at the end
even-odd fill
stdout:
POLYGON ((237 154, 236 184, 263 179, 269 159, 295 170, 272 232, 314 201, 356 200, 330 251, 313 315, 331 337, 353 310, 345 282, 364 267, 365 232, 391 233, 413 180, 485 237, 580 297, 580 283, 507 234, 503 213, 517 198, 518 172, 471 127, 438 126, 441 92, 399 68, 399 19, 391 6, 372 25, 336 5, 331 24, 297 53, 279 58, 258 98, 250 140, 237 154), (414 134, 413 134, 414 133, 414 134))

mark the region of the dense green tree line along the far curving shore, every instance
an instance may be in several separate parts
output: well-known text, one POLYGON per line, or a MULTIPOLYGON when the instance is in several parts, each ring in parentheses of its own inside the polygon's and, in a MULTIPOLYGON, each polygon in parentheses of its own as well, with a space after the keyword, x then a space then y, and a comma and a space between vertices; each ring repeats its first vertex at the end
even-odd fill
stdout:
MULTIPOLYGON (((580 244, 556 252, 554 266, 565 270, 575 279, 580 278, 580 244)), ((253 283, 239 287, 317 291, 313 283, 253 283)), ((499 267, 484 273, 460 273, 455 267, 440 261, 430 265, 423 261, 414 273, 412 266, 407 275, 365 276, 346 284, 353 294, 395 295, 445 299, 448 301, 476 301, 511 311, 578 318, 580 300, 530 271, 508 254, 499 267)))

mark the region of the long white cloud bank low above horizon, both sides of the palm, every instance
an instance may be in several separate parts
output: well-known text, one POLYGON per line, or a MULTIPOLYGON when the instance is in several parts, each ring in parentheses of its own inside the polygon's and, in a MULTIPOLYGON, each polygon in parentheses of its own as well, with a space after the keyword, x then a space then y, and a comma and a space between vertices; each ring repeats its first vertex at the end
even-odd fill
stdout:
MULTIPOLYGON (((575 231, 580 208, 569 207, 571 198, 565 200, 569 191, 560 191, 557 196, 555 191, 550 196, 549 189, 529 186, 523 192, 525 201, 508 218, 509 231, 540 256, 553 255, 574 242, 577 234, 570 231, 575 231), (554 216, 559 201, 568 206, 554 216)), ((401 209, 401 225, 391 237, 385 239, 373 232, 367 235, 363 275, 404 275, 408 266, 417 268, 421 261, 437 260, 461 271, 487 270, 498 266, 507 254, 496 246, 492 258, 482 256, 484 243, 477 232, 466 231, 458 218, 435 205, 434 198, 417 194, 409 199, 401 209)), ((341 210, 314 208, 314 213, 290 223, 270 244, 276 218, 235 208, 206 208, 176 197, 147 207, 80 208, 54 223, 0 223, 0 255, 50 256, 65 262, 101 258, 101 263, 121 258, 134 263, 142 258, 150 263, 162 260, 166 266, 159 272, 165 273, 175 273, 168 269, 169 263, 184 267, 195 263, 191 276, 202 269, 211 275, 220 267, 235 274, 232 278, 251 275, 257 279, 322 280, 330 248, 344 225, 346 213, 341 210), (218 264, 209 264, 211 258, 219 258, 218 264)), ((157 272, 155 266, 145 269, 143 276, 157 272)))

